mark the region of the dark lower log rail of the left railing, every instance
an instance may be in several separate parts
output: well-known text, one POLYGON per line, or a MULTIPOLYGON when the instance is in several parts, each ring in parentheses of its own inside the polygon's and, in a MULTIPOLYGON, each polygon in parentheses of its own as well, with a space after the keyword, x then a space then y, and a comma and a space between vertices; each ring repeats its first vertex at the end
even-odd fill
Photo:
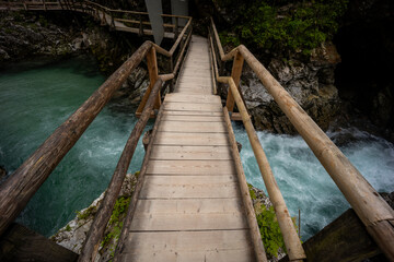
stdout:
POLYGON ((136 151, 138 140, 141 136, 144 127, 147 126, 147 122, 150 117, 150 112, 154 106, 162 83, 163 81, 161 79, 158 79, 158 81, 154 83, 152 92, 148 98, 147 105, 143 108, 142 115, 138 119, 138 122, 136 123, 129 139, 127 140, 120 159, 116 166, 115 172, 105 192, 104 200, 100 205, 97 214, 95 215, 93 224, 86 236, 86 240, 83 246, 81 255, 79 257, 78 260, 79 262, 95 260, 100 247, 100 242, 103 238, 106 225, 109 221, 115 202, 120 192, 121 184, 123 181, 125 180, 127 169, 130 165, 132 155, 136 151))

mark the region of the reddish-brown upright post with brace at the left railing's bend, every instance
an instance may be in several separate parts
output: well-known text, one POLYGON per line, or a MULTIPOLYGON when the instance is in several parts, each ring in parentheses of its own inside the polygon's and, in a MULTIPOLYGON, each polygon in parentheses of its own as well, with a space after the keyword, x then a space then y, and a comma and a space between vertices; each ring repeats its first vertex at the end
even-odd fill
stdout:
MULTIPOLYGON (((148 71, 149 71, 149 86, 147 92, 144 93, 141 103, 139 104, 137 111, 136 111, 136 116, 139 117, 142 114, 142 110, 147 104, 149 94, 151 93, 151 90, 154 85, 154 83, 157 82, 158 78, 159 78, 159 71, 158 71, 158 60, 157 60, 157 53, 155 53, 155 49, 154 47, 152 47, 148 53, 147 53, 147 64, 148 64, 148 71)), ((158 98, 157 102, 154 104, 154 109, 159 109, 161 105, 161 95, 160 92, 158 94, 158 98)))

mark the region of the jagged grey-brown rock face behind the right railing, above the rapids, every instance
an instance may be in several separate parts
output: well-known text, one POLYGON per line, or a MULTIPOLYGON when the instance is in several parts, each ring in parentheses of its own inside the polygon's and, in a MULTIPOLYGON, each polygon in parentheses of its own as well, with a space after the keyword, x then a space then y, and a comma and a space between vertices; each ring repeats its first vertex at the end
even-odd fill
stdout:
MULTIPOLYGON (((267 69, 313 120, 326 130, 339 110, 340 100, 334 85, 334 70, 339 61, 335 46, 326 43, 313 50, 308 62, 296 58, 273 58, 267 69)), ((256 129, 296 133, 279 106, 246 64, 241 90, 256 129)))

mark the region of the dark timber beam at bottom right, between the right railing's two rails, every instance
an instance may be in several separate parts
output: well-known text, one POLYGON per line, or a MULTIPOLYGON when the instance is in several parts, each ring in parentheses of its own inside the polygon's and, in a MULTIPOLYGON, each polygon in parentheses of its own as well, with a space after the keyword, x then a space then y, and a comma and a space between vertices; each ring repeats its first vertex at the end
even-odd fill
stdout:
MULTIPOLYGON (((306 261, 362 261, 382 251, 354 210, 348 210, 304 242, 306 261)), ((280 262, 289 261, 285 257, 280 262)))

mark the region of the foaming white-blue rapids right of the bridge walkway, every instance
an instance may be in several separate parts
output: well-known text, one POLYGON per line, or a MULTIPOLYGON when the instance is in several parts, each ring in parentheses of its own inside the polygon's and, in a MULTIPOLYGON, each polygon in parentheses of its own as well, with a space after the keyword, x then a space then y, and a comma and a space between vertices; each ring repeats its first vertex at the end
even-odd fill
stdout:
MULTIPOLYGON (((233 128, 243 145, 241 158, 247 181, 266 191, 247 134, 239 123, 233 128)), ((394 191, 394 145, 354 128, 327 133, 334 141, 344 134, 354 140, 340 150, 364 178, 380 192, 394 191)), ((258 138, 291 216, 298 217, 301 211, 303 240, 350 207, 301 136, 258 132, 258 138)))

